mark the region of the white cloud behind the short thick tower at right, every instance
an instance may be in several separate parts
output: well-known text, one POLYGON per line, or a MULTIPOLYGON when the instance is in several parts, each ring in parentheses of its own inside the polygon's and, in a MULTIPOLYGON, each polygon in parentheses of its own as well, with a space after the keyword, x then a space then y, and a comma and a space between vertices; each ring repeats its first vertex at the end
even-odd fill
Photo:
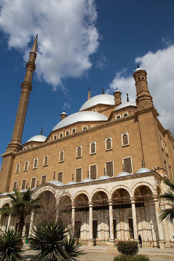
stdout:
MULTIPOLYGON (((160 114, 159 120, 174 134, 174 45, 155 53, 148 52, 142 57, 137 57, 135 62, 147 72, 148 88, 153 97, 154 106, 160 114)), ((128 75, 126 71, 127 69, 123 69, 116 73, 106 93, 113 93, 117 87, 124 101, 126 101, 126 92, 129 94, 129 100, 135 100, 135 81, 133 76, 128 75)))

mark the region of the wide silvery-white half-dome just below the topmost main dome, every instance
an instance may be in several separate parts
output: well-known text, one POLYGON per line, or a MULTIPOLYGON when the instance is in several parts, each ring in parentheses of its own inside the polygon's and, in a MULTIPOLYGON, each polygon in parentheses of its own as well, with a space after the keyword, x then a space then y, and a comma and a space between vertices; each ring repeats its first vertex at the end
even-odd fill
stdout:
POLYGON ((54 127, 53 131, 60 129, 62 127, 68 126, 69 124, 79 122, 79 121, 107 121, 108 117, 105 115, 96 112, 96 111, 80 111, 73 113, 60 121, 56 127, 54 127))

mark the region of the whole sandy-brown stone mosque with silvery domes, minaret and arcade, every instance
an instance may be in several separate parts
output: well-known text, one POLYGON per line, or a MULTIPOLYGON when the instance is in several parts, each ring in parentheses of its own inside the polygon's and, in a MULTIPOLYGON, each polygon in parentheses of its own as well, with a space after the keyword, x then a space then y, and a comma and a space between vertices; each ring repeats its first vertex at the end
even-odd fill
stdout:
MULTIPOLYGON (((141 234, 145 247, 174 247, 172 224, 158 220, 159 210, 169 207, 158 195, 167 189, 163 180, 173 180, 174 140, 158 120, 146 70, 138 66, 133 74, 135 101, 128 94, 121 97, 119 90, 91 97, 89 89, 79 111, 69 116, 63 111, 48 137, 41 131, 21 145, 36 52, 37 36, 12 138, 1 155, 0 207, 9 204, 14 189, 30 187, 34 197, 66 191, 73 226, 80 221, 80 242, 115 246, 118 240, 137 241, 141 234)), ((18 225, 10 216, 0 218, 2 229, 18 225)), ((32 223, 33 215, 25 229, 32 223)))

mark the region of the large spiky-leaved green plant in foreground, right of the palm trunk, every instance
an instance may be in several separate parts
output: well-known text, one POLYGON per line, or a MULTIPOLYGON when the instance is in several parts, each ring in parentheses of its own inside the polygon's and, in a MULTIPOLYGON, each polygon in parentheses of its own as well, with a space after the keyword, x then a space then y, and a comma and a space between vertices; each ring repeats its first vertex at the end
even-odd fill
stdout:
POLYGON ((62 225, 59 219, 52 223, 46 222, 42 226, 33 228, 33 235, 29 238, 32 247, 36 250, 41 250, 30 261, 71 261, 77 260, 75 257, 80 255, 78 246, 75 246, 75 241, 71 239, 68 243, 65 233, 67 233, 67 225, 62 225))

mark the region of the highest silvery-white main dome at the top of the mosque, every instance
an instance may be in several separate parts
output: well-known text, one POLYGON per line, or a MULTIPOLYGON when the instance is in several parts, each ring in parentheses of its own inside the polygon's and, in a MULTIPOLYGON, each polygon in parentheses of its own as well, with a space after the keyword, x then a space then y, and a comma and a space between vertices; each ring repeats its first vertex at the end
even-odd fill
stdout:
POLYGON ((87 100, 83 105, 82 107, 80 108, 79 111, 83 111, 85 109, 88 109, 94 105, 97 105, 97 104, 108 104, 108 105, 114 105, 115 104, 115 101, 114 101, 114 96, 113 95, 110 95, 110 94, 99 94, 99 95, 96 95, 92 98, 90 98, 89 100, 87 100))

